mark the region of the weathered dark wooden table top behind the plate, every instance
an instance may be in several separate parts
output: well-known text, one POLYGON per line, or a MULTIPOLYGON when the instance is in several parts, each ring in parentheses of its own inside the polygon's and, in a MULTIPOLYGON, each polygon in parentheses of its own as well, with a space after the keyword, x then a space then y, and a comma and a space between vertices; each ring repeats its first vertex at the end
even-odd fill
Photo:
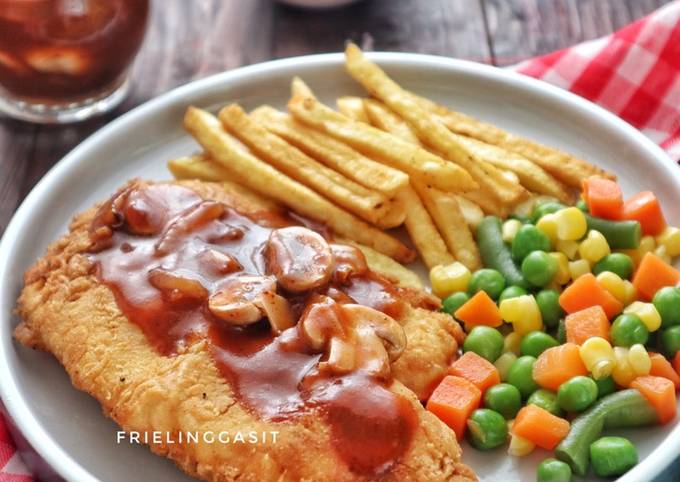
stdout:
POLYGON ((366 49, 495 65, 596 38, 668 0, 364 0, 329 11, 271 0, 156 0, 132 91, 102 118, 71 126, 0 120, 0 234, 35 183, 89 134, 173 87, 240 65, 366 49))

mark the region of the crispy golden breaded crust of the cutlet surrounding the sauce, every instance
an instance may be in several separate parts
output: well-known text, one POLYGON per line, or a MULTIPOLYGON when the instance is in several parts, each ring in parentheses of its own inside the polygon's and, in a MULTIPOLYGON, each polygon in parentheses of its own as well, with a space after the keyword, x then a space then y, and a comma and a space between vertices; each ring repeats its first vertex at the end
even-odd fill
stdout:
MULTIPOLYGON (((278 209, 229 183, 181 184, 247 216, 278 209)), ((277 432, 275 442, 271 437, 257 443, 149 440, 153 452, 169 457, 188 474, 215 481, 475 479, 460 462, 453 431, 418 400, 443 376, 457 349, 461 331, 450 317, 409 307, 398 320, 407 348, 393 366, 396 379, 388 389, 399 394, 413 414, 412 436, 394 463, 373 472, 359 470, 361 461, 353 464, 352 454, 347 456, 338 446, 337 427, 316 411, 276 421, 254 413, 221 373, 206 339, 172 356, 160 353, 123 314, 112 290, 93 274, 87 251, 97 211, 94 207, 76 216, 70 232, 25 274, 18 301, 23 321, 15 330, 16 339, 54 354, 74 386, 95 397, 104 413, 126 431, 277 432)), ((352 436, 360 441, 361 427, 343 427, 357 429, 352 436)))

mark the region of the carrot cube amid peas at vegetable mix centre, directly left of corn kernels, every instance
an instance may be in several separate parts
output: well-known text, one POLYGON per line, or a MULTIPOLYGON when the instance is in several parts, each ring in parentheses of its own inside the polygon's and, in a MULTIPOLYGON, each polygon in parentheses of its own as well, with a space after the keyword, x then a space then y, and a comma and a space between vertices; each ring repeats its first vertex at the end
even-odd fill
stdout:
POLYGON ((552 391, 564 382, 578 375, 587 375, 588 370, 581 360, 579 346, 574 343, 548 348, 534 363, 532 376, 541 387, 552 391))

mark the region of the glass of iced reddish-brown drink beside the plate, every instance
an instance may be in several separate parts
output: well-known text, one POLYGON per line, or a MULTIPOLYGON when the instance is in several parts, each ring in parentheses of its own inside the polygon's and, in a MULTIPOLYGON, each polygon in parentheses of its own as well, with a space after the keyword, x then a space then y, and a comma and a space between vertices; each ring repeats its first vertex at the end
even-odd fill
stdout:
POLYGON ((0 0, 0 111, 65 123, 111 110, 148 13, 149 0, 0 0))

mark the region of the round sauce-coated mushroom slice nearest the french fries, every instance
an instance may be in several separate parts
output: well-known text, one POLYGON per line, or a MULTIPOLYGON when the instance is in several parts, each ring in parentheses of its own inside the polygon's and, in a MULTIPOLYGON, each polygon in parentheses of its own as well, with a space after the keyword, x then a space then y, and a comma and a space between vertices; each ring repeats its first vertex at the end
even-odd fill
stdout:
POLYGON ((286 290, 300 293, 328 283, 333 253, 326 240, 300 226, 275 229, 266 246, 267 268, 286 290))

